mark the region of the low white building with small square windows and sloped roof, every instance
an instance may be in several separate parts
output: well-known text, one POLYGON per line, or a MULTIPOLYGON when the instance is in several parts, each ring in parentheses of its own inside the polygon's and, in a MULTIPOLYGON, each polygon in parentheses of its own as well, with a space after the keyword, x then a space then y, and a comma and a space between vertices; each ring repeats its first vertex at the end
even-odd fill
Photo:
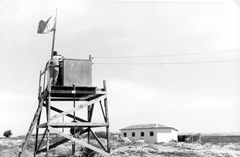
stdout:
POLYGON ((127 137, 133 141, 143 139, 149 143, 177 141, 177 129, 161 124, 141 124, 131 125, 120 129, 121 136, 127 137))

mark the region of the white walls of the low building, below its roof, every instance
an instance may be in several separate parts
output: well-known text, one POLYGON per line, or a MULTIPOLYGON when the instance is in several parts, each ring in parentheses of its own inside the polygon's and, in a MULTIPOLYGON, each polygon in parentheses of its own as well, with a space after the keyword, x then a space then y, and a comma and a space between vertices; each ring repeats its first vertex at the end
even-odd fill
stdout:
POLYGON ((143 139, 148 143, 160 143, 169 142, 171 140, 177 141, 177 131, 173 129, 137 129, 137 130, 121 130, 121 136, 124 137, 124 133, 127 133, 127 138, 133 141, 143 139), (135 133, 135 137, 132 133, 135 133), (144 132, 144 136, 141 136, 141 132, 144 132), (150 132, 153 132, 153 136, 150 136, 150 132))

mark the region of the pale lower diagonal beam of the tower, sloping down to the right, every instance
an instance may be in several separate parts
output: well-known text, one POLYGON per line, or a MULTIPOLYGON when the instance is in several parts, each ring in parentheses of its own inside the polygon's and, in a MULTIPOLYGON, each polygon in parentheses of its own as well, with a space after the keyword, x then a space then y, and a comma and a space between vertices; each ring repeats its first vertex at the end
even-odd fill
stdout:
POLYGON ((73 141, 73 142, 78 143, 78 144, 81 145, 81 146, 87 147, 87 148, 89 148, 89 149, 91 149, 91 150, 93 150, 93 151, 96 151, 96 152, 98 152, 98 153, 100 153, 100 154, 103 154, 104 156, 110 156, 109 153, 107 153, 107 152, 105 152, 105 151, 103 151, 103 150, 101 150, 101 149, 99 149, 99 148, 96 148, 96 147, 94 147, 94 146, 92 146, 92 145, 90 145, 90 144, 87 144, 87 143, 86 143, 85 141, 83 141, 83 140, 79 140, 79 139, 77 139, 77 138, 74 138, 73 136, 64 134, 64 133, 62 133, 62 132, 60 132, 60 131, 58 131, 57 129, 54 129, 54 128, 52 128, 52 127, 49 127, 48 129, 49 129, 52 133, 56 133, 56 134, 58 134, 58 135, 60 135, 60 136, 63 136, 63 137, 65 137, 65 138, 67 138, 67 139, 69 139, 69 140, 71 140, 71 141, 73 141))

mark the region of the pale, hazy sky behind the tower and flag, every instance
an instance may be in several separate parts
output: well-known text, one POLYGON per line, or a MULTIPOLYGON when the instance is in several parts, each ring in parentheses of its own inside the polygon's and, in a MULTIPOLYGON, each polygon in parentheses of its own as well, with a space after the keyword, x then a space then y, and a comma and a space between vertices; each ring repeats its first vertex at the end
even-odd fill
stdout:
MULTIPOLYGON (((55 49, 93 56, 107 81, 110 129, 159 123, 179 132, 240 132, 238 1, 0 0, 0 136, 27 133, 58 9, 55 49)), ((96 119, 99 110, 96 110, 96 119)))

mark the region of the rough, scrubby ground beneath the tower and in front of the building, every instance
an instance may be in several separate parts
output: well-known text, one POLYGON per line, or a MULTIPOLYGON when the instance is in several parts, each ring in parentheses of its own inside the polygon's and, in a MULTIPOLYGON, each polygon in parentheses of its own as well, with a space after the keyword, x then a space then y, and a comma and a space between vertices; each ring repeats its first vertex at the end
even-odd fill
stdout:
MULTIPOLYGON (((102 139, 104 141, 104 139, 102 139)), ((0 139, 0 157, 17 157, 22 140, 0 139)), ((240 143, 183 143, 171 142, 147 144, 124 140, 111 141, 112 157, 240 157, 240 143)), ((22 157, 32 157, 32 147, 28 147, 22 157)), ((77 150, 81 150, 78 146, 77 150)), ((71 142, 54 148, 51 153, 65 155, 71 153, 71 142)), ((79 154, 81 155, 81 154, 79 154)), ((42 155, 40 155, 42 156, 42 155)), ((95 154, 95 157, 102 157, 95 154)))

